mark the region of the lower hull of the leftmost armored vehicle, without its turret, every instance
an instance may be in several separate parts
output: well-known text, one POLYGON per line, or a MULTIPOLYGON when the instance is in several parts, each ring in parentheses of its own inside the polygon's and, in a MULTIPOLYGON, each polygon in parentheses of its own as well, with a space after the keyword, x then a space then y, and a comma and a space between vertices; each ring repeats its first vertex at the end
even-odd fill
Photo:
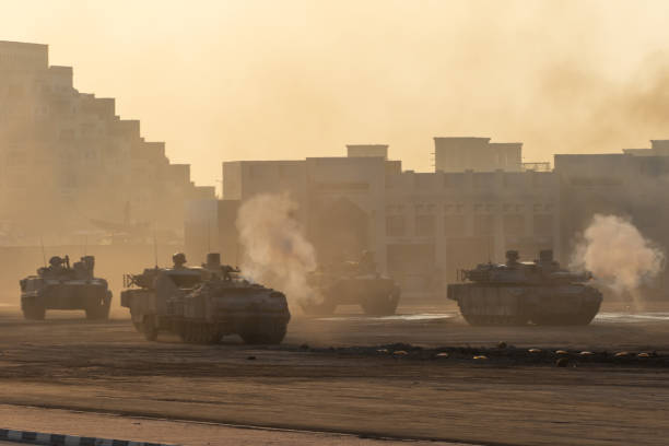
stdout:
POLYGON ((109 315, 111 292, 102 279, 27 278, 22 282, 21 309, 26 319, 44 319, 46 310, 51 309, 83 309, 89 319, 106 319, 109 315))

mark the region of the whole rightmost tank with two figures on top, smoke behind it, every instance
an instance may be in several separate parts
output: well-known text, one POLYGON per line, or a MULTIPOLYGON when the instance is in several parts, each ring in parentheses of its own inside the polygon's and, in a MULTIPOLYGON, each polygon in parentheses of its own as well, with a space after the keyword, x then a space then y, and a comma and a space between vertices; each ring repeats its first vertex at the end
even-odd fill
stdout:
POLYGON ((469 283, 449 284, 447 295, 470 325, 588 325, 601 304, 601 293, 586 284, 591 274, 562 269, 551 250, 532 262, 519 262, 518 251, 509 250, 506 263, 461 274, 469 283))

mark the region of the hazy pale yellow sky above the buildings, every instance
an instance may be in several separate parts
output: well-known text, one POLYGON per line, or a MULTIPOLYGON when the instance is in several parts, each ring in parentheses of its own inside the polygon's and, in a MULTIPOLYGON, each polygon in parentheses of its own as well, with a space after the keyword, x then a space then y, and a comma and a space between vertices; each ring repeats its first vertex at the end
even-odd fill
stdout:
POLYGON ((432 168, 435 136, 555 152, 669 138, 666 1, 15 1, 0 39, 50 46, 212 185, 226 160, 388 143, 432 168))

